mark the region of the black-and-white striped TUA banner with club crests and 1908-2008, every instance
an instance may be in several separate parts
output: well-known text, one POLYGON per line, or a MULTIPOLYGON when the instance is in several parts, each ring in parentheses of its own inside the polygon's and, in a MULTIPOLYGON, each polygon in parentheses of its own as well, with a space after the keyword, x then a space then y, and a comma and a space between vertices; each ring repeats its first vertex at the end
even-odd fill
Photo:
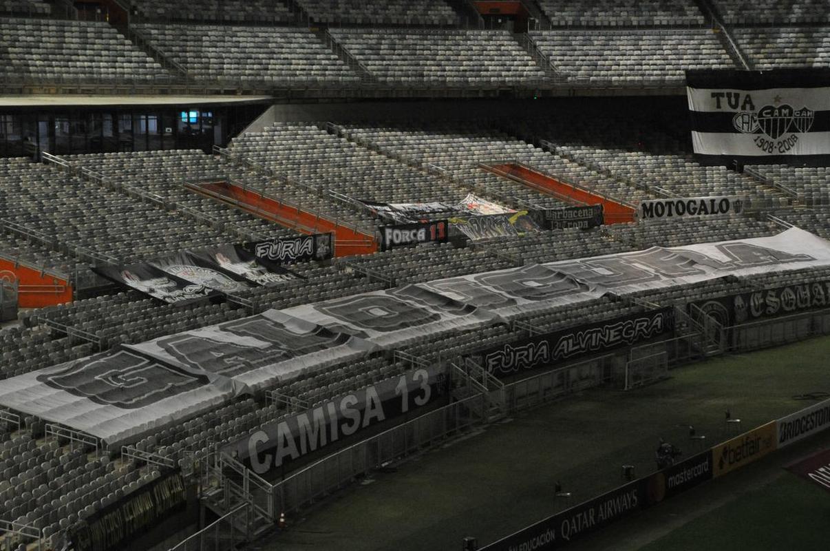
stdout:
POLYGON ((686 95, 701 162, 830 160, 830 69, 686 71, 686 95))

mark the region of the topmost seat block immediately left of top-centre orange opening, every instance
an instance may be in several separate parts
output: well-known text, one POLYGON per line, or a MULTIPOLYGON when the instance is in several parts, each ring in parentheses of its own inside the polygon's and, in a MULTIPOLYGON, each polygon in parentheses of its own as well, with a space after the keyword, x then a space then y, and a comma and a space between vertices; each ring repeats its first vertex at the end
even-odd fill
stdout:
POLYGON ((297 0, 313 22, 364 25, 455 25, 456 12, 443 0, 297 0))

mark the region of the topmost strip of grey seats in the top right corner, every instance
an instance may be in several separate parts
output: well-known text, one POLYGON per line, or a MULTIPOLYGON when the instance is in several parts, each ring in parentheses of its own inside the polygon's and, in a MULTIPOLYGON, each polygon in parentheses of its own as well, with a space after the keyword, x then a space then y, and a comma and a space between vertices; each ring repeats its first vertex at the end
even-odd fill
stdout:
POLYGON ((744 23, 823 23, 830 22, 825 0, 715 0, 724 22, 744 23))

